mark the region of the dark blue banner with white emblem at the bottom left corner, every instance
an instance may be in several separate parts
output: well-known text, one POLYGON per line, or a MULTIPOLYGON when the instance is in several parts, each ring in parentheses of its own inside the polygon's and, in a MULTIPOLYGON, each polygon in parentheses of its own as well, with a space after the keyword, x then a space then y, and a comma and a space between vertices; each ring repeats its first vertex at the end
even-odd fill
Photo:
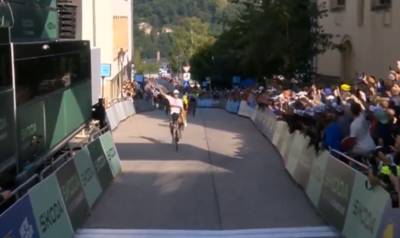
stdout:
POLYGON ((1 238, 39 238, 29 196, 21 198, 0 216, 1 238))

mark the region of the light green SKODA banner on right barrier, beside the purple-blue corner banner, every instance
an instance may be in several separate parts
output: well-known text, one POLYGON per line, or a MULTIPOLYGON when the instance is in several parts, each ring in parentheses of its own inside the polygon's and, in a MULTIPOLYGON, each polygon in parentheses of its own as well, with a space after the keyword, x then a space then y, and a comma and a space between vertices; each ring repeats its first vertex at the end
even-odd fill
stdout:
POLYGON ((390 196, 381 187, 367 190, 365 182, 368 178, 359 172, 355 173, 343 234, 346 237, 375 238, 390 196))

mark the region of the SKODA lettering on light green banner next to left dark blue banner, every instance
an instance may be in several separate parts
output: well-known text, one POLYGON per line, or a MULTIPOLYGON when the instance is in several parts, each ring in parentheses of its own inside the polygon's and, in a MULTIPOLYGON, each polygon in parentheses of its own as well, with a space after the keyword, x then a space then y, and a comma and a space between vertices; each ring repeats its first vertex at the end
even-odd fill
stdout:
POLYGON ((57 200, 51 204, 43 213, 39 215, 39 225, 42 233, 46 233, 57 221, 60 220, 64 213, 61 201, 57 200))

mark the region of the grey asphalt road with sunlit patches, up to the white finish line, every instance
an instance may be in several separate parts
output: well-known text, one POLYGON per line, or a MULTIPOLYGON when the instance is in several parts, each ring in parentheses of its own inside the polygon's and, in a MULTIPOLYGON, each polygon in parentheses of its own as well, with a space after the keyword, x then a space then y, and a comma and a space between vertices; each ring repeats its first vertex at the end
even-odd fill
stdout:
POLYGON ((171 144, 165 113, 128 119, 113 134, 123 175, 85 228, 250 229, 324 226, 250 120, 201 109, 171 144))

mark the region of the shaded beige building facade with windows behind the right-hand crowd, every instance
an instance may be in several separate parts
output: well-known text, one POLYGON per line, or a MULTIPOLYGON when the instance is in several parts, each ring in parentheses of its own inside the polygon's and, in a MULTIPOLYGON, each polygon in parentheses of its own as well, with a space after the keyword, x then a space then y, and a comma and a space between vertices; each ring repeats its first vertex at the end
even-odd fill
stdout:
POLYGON ((400 1, 318 0, 320 20, 338 47, 317 57, 320 76, 351 82, 363 72, 385 78, 400 59, 400 1))

